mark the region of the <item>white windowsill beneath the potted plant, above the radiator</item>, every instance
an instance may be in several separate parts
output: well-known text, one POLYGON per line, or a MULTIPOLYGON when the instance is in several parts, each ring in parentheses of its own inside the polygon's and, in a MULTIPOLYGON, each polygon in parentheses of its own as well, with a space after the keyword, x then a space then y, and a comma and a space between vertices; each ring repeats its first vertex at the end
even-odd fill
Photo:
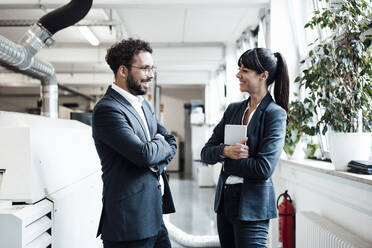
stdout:
POLYGON ((332 176, 349 179, 355 182, 372 185, 372 175, 356 174, 356 173, 351 173, 351 172, 346 172, 346 171, 336 171, 334 166, 330 162, 316 161, 316 160, 311 160, 311 159, 303 159, 303 160, 281 159, 280 163, 298 166, 301 168, 322 172, 322 173, 329 174, 332 176))

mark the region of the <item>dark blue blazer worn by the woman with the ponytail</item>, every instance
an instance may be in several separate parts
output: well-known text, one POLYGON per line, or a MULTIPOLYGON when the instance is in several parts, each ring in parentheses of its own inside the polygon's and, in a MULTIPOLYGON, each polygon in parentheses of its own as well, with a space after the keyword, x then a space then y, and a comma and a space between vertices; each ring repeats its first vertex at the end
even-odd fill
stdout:
POLYGON ((219 211, 222 189, 229 175, 244 178, 240 196, 239 219, 245 221, 275 218, 276 202, 271 175, 284 146, 287 114, 268 93, 257 107, 248 125, 249 157, 233 160, 223 158, 226 124, 241 125, 248 100, 232 103, 226 109, 212 137, 201 152, 201 159, 208 164, 224 161, 219 177, 214 210, 219 211))

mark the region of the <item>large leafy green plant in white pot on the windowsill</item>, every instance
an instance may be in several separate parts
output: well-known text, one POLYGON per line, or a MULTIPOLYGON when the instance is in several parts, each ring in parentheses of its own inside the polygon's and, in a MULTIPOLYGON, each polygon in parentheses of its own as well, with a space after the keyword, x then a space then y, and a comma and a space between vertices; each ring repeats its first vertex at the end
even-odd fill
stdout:
POLYGON ((327 133, 336 170, 346 170, 352 159, 367 160, 371 151, 371 39, 361 38, 371 22, 370 6, 370 0, 338 0, 305 25, 330 33, 302 61, 307 68, 295 81, 314 106, 316 131, 327 133))

